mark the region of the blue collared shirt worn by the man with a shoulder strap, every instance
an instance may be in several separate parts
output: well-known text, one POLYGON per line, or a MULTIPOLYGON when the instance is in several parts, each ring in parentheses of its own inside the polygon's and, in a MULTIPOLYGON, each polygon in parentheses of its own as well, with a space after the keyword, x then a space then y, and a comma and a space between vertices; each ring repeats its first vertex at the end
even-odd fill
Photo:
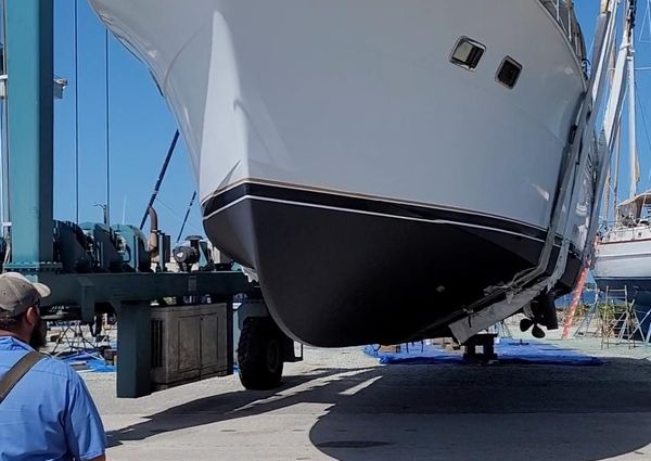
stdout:
MULTIPOLYGON (((0 336, 0 379, 30 350, 0 336)), ((105 446, 84 380, 60 360, 39 361, 0 404, 0 461, 87 461, 104 454, 105 446)))

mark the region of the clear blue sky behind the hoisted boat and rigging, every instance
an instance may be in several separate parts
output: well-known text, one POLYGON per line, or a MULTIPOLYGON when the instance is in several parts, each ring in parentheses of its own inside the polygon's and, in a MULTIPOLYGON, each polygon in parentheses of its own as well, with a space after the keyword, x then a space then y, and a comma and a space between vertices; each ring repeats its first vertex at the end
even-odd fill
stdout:
MULTIPOLYGON (((576 0, 587 46, 592 40, 599 8, 598 0, 576 0)), ((638 26, 647 8, 639 1, 638 26)), ((79 89, 79 180, 80 220, 100 221, 101 210, 93 206, 106 202, 105 156, 105 66, 104 28, 86 0, 78 0, 79 81, 74 67, 75 0, 55 0, 55 73, 68 79, 63 101, 55 104, 54 216, 75 219, 75 86, 79 89)), ((651 30, 638 30, 638 37, 651 41, 651 30)), ((138 225, 151 194, 176 123, 158 93, 148 69, 110 36, 110 130, 111 130, 111 208, 112 221, 122 221, 126 200, 126 222, 138 225)), ((638 44, 638 67, 651 66, 651 44, 638 44)), ((642 183, 651 185, 651 146, 646 137, 644 118, 651 123, 651 72, 638 74, 638 138, 642 183), (643 117, 642 117, 643 115, 643 117)), ((651 130, 651 127, 649 128, 651 130)), ((623 168, 626 168, 624 161, 623 168)), ((186 146, 181 141, 163 183, 156 209, 161 227, 176 239, 194 179, 186 146)), ((202 233, 195 204, 186 233, 202 233)))

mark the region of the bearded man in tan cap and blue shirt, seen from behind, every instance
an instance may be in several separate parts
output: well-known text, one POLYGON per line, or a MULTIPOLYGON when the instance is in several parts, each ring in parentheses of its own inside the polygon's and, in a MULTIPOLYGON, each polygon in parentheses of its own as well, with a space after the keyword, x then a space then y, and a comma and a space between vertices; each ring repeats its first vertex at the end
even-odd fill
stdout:
POLYGON ((105 460, 98 410, 79 375, 44 345, 42 283, 0 274, 0 461, 105 460))

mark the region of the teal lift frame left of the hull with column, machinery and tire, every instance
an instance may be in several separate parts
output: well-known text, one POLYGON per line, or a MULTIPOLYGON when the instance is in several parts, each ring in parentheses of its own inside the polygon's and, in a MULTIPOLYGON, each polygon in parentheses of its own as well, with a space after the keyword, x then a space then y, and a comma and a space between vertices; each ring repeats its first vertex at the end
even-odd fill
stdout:
MULTIPOLYGON (((152 303, 165 305, 161 300, 169 298, 179 306, 174 307, 177 315, 179 309, 196 308, 199 300, 222 306, 226 321, 215 323, 216 334, 209 341, 202 337, 203 326, 187 325, 187 335, 176 338, 177 346, 197 344, 193 359, 208 351, 222 358, 224 367, 214 375, 233 373, 233 296, 243 297, 238 309, 241 381, 247 388, 279 385, 283 361, 301 357, 294 354, 294 343, 269 317, 259 287, 241 271, 169 272, 165 267, 169 238, 155 229, 155 252, 150 252, 152 245, 132 226, 78 226, 53 220, 53 1, 7 0, 4 15, 7 75, 1 79, 7 85, 9 113, 9 162, 4 163, 9 164, 9 174, 4 175, 9 202, 4 206, 10 207, 11 218, 5 219, 5 226, 11 227, 5 234, 10 257, 4 258, 9 262, 3 270, 21 272, 52 289, 52 295, 41 305, 46 318, 91 323, 97 315, 117 315, 118 397, 153 392, 152 367, 162 363, 152 363, 152 357, 155 361, 164 358, 152 348, 152 341, 161 342, 171 333, 161 332, 157 323, 152 335, 152 319, 164 309, 152 307, 152 303), (151 262, 155 259, 158 264, 153 271, 151 262), (183 306, 188 299, 193 306, 183 306), (226 351, 217 350, 222 346, 226 351)), ((194 239, 182 246, 187 248, 178 253, 186 268, 206 257, 194 239)), ((182 369, 179 357, 175 367, 182 369)), ((200 373, 183 383, 203 377, 200 373)))

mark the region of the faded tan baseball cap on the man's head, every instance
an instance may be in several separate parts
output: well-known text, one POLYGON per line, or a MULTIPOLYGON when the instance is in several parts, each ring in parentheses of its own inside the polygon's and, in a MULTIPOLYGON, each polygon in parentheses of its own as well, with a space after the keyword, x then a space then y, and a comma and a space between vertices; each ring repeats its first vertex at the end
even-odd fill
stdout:
POLYGON ((0 317, 20 316, 49 295, 48 285, 30 282, 18 272, 4 272, 0 274, 0 317))

